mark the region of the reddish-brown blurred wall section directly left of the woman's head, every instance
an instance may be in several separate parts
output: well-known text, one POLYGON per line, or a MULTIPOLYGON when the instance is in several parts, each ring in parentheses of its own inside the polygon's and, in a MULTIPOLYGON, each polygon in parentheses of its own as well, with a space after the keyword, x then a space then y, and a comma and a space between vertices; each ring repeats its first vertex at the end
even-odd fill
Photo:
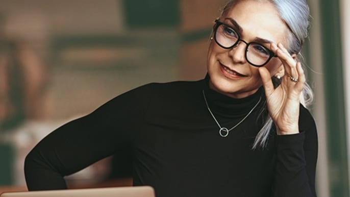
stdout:
MULTIPOLYGON (((220 16, 220 8, 227 0, 180 1, 182 35, 210 30, 220 16)), ((207 50, 210 34, 194 41, 183 42, 179 52, 178 75, 182 80, 203 79, 207 72, 207 50)))

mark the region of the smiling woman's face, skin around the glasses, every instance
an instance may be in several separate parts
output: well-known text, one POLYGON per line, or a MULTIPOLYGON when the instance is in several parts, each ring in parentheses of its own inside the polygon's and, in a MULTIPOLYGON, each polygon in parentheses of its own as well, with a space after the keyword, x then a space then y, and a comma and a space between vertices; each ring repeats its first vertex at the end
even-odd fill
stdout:
MULTIPOLYGON (((287 46, 287 26, 268 1, 239 1, 219 20, 231 26, 248 43, 258 42, 267 48, 270 48, 269 42, 287 46)), ((222 48, 214 39, 211 41, 207 57, 210 88, 235 98, 246 97, 258 90, 262 85, 258 67, 246 61, 245 48, 242 41, 229 49, 222 48)), ((271 76, 283 70, 278 58, 272 58, 264 66, 271 76)))

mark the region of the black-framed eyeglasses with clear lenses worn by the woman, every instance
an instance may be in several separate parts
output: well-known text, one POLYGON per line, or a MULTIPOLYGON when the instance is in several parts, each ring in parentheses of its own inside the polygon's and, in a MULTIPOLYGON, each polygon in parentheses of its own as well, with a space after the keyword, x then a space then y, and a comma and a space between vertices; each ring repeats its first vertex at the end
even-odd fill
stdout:
POLYGON ((215 42, 222 48, 232 48, 238 45, 239 41, 246 44, 245 47, 245 59, 249 64, 253 66, 261 67, 267 64, 272 57, 277 57, 268 48, 261 45, 258 42, 249 42, 242 40, 237 31, 235 31, 228 24, 215 20, 214 26, 214 39, 215 42))

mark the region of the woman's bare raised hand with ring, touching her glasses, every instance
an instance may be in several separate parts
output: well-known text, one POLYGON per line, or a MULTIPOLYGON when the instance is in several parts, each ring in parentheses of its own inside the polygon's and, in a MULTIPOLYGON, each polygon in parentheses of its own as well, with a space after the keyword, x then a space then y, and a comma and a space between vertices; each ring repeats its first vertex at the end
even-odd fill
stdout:
POLYGON ((282 61, 285 75, 281 85, 274 89, 269 71, 265 67, 259 68, 267 108, 278 135, 296 134, 299 133, 299 105, 305 83, 304 70, 301 63, 295 62, 281 43, 272 43, 271 50, 282 61), (297 81, 293 82, 291 77, 297 81))

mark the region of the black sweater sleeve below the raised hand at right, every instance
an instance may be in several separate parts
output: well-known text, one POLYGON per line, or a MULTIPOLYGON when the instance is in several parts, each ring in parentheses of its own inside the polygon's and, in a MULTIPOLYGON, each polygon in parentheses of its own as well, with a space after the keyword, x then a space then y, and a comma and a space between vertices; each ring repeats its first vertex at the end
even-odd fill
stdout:
POLYGON ((301 108, 299 134, 277 136, 274 196, 314 197, 318 142, 315 122, 301 108))

